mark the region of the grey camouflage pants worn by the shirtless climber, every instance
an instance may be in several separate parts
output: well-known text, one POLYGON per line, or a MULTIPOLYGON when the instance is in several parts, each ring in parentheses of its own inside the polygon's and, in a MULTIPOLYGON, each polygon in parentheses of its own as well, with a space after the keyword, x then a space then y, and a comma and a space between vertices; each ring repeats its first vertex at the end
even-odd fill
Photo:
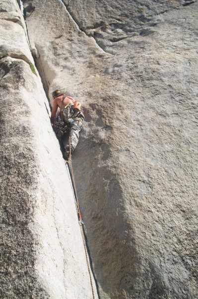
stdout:
MULTIPOLYGON (((73 152, 78 144, 79 132, 81 129, 82 122, 80 121, 74 121, 70 124, 71 152, 73 152)), ((69 150, 69 131, 64 134, 62 142, 66 151, 69 150)))

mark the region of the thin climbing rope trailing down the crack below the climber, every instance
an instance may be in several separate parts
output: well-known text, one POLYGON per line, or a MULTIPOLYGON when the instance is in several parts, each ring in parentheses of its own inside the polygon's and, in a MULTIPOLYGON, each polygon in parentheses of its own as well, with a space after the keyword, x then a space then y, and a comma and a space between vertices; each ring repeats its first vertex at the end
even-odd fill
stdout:
POLYGON ((71 180, 72 180, 73 190, 74 190, 74 195, 75 195, 74 196, 75 205, 76 205, 76 209, 77 209, 78 221, 79 221, 80 230, 81 230, 81 234, 82 234, 82 240, 83 240, 84 251, 85 251, 85 256, 86 256, 87 268, 88 268, 89 278, 90 278, 90 283, 91 283, 92 296, 93 296, 93 299, 95 299, 93 281, 92 281, 92 277, 91 277, 91 268, 90 268, 90 264, 89 264, 89 257, 88 257, 88 253, 87 253, 86 242, 85 242, 84 231, 83 231, 82 215, 80 213, 80 207, 79 207, 79 202, 78 202, 78 197, 77 197, 77 192, 76 192, 76 187, 75 187, 75 180, 74 180, 74 175, 73 175, 73 168, 72 168, 72 161, 71 161, 70 129, 69 129, 69 158, 68 158, 68 160, 66 160, 66 163, 69 164, 69 170, 70 170, 70 174, 71 174, 71 180))

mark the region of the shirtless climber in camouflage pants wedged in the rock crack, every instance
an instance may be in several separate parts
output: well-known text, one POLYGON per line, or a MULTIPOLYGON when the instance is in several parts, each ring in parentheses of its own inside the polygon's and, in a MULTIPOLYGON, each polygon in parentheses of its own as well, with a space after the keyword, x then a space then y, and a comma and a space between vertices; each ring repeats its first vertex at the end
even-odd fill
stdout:
POLYGON ((62 141, 65 151, 66 159, 69 156, 69 135, 67 134, 70 128, 70 153, 76 148, 78 144, 79 132, 82 129, 82 122, 84 115, 81 111, 81 103, 75 101, 72 97, 59 89, 53 91, 54 98, 51 122, 55 126, 55 132, 62 141), (60 108, 58 110, 58 108, 60 108))

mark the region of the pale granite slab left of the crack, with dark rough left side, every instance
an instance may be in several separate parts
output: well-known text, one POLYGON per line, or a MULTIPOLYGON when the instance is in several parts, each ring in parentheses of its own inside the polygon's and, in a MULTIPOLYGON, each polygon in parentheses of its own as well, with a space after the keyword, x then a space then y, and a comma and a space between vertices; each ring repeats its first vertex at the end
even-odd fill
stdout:
POLYGON ((71 182, 22 26, 0 20, 0 45, 0 298, 91 298, 71 182))

